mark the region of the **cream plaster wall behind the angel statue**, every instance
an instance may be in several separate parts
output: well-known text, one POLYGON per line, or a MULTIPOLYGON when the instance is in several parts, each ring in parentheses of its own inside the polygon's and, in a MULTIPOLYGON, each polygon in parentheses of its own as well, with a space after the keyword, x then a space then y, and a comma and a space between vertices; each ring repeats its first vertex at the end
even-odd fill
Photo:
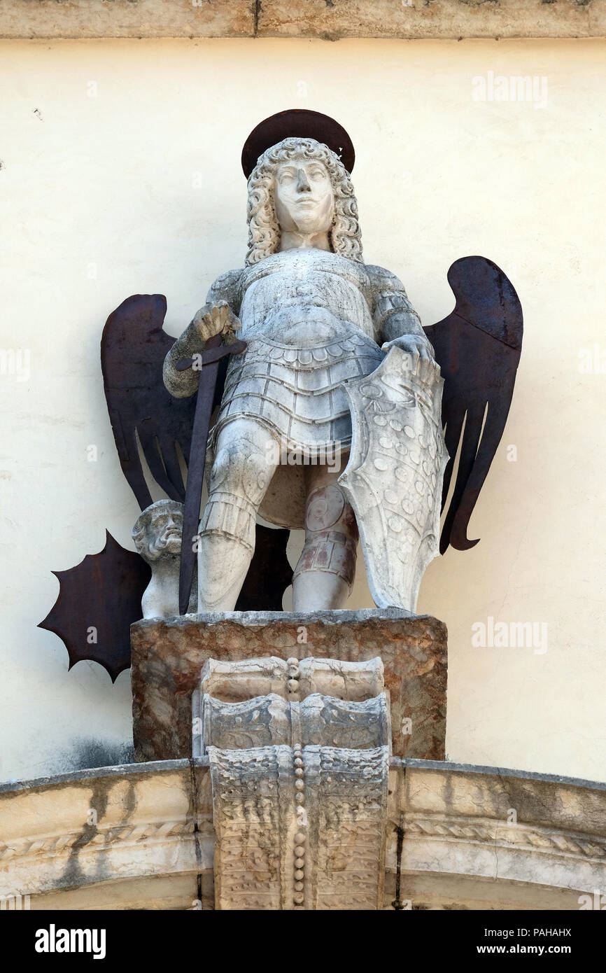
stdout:
MULTIPOLYGON (((509 274, 525 312, 514 405, 470 530, 481 543, 436 561, 419 601, 449 630, 448 757, 604 778, 605 50, 1 45, 0 779, 124 752, 128 673, 114 686, 90 663, 68 673, 62 643, 35 628, 58 591, 52 570, 99 551, 106 527, 130 546, 137 507, 105 409, 101 328, 129 294, 162 292, 177 334, 212 279, 241 265, 241 146, 288 107, 350 132, 366 258, 402 277, 425 324, 451 309, 450 263, 473 253, 509 274), (537 78, 537 100, 474 100, 489 72, 537 78), (488 616, 545 624, 547 651, 475 647, 488 616)), ((362 576, 352 606, 371 604, 362 576)))

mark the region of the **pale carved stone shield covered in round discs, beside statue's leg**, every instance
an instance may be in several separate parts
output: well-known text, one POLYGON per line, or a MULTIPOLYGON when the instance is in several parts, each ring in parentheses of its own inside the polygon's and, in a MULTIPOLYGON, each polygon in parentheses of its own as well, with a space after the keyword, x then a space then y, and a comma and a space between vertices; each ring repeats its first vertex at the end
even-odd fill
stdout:
POLYGON ((442 481, 440 366, 392 347, 366 378, 344 382, 352 444, 339 485, 354 509, 378 608, 415 611, 423 572, 439 554, 442 481), (418 374, 417 374, 418 373, 418 374))

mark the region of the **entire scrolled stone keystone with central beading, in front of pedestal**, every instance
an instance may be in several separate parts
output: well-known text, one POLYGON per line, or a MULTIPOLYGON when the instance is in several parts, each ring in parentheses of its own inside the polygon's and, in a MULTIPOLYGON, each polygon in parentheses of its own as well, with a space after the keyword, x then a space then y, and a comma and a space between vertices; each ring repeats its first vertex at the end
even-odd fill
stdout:
POLYGON ((210 762, 217 909, 380 908, 389 711, 379 659, 206 663, 194 756, 210 762), (306 694, 327 683, 345 698, 306 694), (262 685, 277 692, 243 698, 262 685))

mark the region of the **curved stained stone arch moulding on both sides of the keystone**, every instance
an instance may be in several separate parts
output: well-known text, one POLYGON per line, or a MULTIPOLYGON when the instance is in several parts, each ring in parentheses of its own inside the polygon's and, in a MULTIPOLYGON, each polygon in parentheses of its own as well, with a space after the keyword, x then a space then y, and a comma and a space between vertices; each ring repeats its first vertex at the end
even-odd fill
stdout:
MULTIPOLYGON (((398 758, 390 776, 386 909, 578 909, 606 888, 606 784, 398 758)), ((0 895, 32 909, 213 908, 204 758, 6 784, 0 836, 0 895)))

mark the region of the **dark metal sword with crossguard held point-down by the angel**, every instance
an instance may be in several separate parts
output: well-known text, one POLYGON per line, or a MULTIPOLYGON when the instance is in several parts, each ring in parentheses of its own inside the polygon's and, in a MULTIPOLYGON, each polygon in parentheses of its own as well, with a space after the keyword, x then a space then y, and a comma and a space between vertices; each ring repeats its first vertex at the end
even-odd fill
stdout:
POLYGON ((204 482, 204 467, 206 465, 206 443, 208 441, 208 427, 212 414, 215 397, 215 386, 219 372, 219 362, 226 355, 238 355, 246 348, 246 342, 235 341, 224 344, 221 335, 215 335, 204 344, 201 355, 193 358, 181 358, 177 362, 177 371, 185 372, 189 368, 201 370, 197 389, 196 413, 194 415, 194 429, 190 447, 190 465, 188 467, 188 482, 185 490, 185 506, 183 511, 183 540, 181 542, 181 567, 179 571, 179 613, 185 615, 192 594, 192 580, 194 578, 194 563, 196 550, 194 542, 197 538, 199 526, 200 501, 202 498, 202 484, 204 482))

